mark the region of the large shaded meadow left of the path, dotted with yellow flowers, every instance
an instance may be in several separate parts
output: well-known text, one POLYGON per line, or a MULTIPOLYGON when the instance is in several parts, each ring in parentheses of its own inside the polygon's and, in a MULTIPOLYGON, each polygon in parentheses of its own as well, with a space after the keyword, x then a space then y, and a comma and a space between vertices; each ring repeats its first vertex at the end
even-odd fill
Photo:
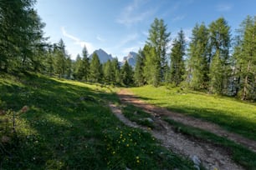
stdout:
POLYGON ((114 92, 39 74, 0 75, 0 169, 192 169, 120 122, 106 107, 119 102, 114 92))

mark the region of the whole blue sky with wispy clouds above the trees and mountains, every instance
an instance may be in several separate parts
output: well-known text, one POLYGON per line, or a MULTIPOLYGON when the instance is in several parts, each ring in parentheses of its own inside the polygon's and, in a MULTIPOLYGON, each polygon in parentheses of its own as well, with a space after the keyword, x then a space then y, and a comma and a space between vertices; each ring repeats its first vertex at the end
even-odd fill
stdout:
POLYGON ((63 38, 74 59, 84 45, 102 48, 119 60, 144 46, 154 18, 162 18, 171 38, 182 28, 187 41, 196 23, 223 17, 232 33, 247 15, 256 15, 255 0, 38 0, 49 42, 63 38))

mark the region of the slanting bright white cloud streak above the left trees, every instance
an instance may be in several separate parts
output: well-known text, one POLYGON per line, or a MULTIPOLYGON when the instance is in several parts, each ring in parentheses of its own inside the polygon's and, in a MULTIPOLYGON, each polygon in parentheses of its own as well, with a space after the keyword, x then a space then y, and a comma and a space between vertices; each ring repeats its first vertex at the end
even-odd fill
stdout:
POLYGON ((74 44, 79 45, 80 47, 85 46, 89 53, 92 53, 94 51, 95 47, 93 47, 92 43, 81 41, 78 37, 74 37, 73 35, 66 32, 64 27, 61 28, 61 32, 64 37, 69 37, 71 40, 73 40, 74 44))

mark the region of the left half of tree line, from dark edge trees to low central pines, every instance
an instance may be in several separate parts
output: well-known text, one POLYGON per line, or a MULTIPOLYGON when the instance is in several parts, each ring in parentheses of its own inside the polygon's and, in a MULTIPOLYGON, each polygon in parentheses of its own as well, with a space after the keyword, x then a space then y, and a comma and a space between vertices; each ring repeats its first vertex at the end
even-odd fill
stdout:
POLYGON ((33 8, 35 2, 0 1, 0 72, 41 72, 85 82, 131 84, 132 68, 128 63, 120 67, 115 58, 101 64, 96 53, 89 58, 86 47, 73 61, 62 39, 54 44, 47 42, 45 23, 33 8))

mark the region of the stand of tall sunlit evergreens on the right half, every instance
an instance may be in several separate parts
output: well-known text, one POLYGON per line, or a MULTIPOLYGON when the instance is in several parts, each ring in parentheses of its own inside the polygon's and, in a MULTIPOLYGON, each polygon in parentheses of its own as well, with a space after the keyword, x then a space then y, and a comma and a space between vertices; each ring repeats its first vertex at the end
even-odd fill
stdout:
POLYGON ((171 32, 162 19, 155 19, 146 45, 138 53, 134 70, 137 86, 190 87, 211 93, 256 100, 256 17, 243 20, 231 37, 224 18, 208 26, 196 24, 191 41, 178 32, 170 47, 171 32))

